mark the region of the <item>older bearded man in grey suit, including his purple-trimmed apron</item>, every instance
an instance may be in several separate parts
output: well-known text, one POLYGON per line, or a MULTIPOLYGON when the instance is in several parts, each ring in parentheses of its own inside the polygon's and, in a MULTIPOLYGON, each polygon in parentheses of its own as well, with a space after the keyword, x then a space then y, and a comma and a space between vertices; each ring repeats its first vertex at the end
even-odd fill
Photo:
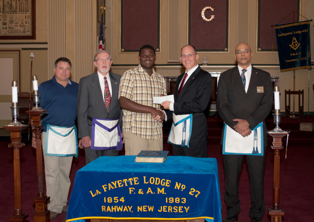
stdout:
POLYGON ((85 149, 86 164, 99 156, 118 156, 122 149, 123 113, 118 100, 121 76, 109 72, 111 64, 109 52, 98 51, 94 57, 97 71, 79 82, 78 137, 82 138, 79 146, 85 149), (114 126, 112 133, 106 130, 114 126), (115 144, 107 143, 109 138, 114 138, 115 144))

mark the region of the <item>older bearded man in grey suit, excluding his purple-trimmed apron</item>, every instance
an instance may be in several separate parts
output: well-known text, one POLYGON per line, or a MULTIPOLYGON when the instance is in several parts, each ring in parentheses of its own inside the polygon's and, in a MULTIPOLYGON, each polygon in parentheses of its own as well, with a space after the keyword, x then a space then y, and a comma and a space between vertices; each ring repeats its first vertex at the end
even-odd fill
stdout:
MULTIPOLYGON (((98 51, 94 57, 94 65, 97 67, 97 71, 81 78, 79 82, 77 100, 78 137, 82 138, 82 146, 85 148, 86 164, 100 156, 118 156, 116 149, 91 149, 93 118, 120 118, 119 125, 122 128, 123 113, 118 100, 121 76, 109 72, 111 64, 111 55, 105 50, 98 51), (110 102, 108 102, 108 97, 110 102)), ((103 140, 105 139, 103 138, 103 140)))

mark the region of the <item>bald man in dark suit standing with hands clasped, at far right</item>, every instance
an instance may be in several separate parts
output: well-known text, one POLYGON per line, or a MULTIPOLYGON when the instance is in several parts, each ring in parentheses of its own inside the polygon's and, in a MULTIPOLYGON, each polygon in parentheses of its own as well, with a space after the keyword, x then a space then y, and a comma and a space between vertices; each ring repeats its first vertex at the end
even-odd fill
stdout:
MULTIPOLYGON (((257 156, 253 152, 246 155, 251 188, 249 216, 252 222, 260 222, 263 221, 265 212, 263 189, 267 129, 264 119, 268 116, 273 104, 273 85, 268 72, 251 65, 252 55, 251 48, 246 43, 240 43, 236 46, 235 57, 238 65, 223 72, 219 77, 217 110, 227 124, 222 131, 222 138, 226 137, 225 128, 230 127, 231 133, 236 132, 232 135, 240 136, 239 134, 241 134, 245 138, 251 134, 251 130, 257 125, 263 123, 263 131, 261 132, 263 147, 258 148, 260 151, 263 149, 263 156, 257 156)), ((241 141, 243 141, 241 136, 241 141)), ((239 176, 244 155, 239 153, 243 153, 240 150, 244 144, 243 142, 241 144, 234 142, 234 139, 232 141, 232 146, 239 148, 234 152, 236 154, 223 155, 225 202, 227 204, 227 216, 223 221, 237 221, 240 213, 239 176)), ((250 149, 252 150, 252 144, 250 149)))

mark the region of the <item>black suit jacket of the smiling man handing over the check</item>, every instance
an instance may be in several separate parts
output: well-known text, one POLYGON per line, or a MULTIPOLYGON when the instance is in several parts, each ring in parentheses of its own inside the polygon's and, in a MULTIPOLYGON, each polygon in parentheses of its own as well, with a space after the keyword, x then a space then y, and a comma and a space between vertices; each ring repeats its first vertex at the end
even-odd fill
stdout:
POLYGON ((208 138, 207 120, 204 114, 212 93, 212 76, 198 68, 187 79, 178 97, 180 82, 185 73, 182 73, 176 81, 174 94, 174 113, 176 115, 192 114, 192 133, 189 144, 205 141, 208 138))

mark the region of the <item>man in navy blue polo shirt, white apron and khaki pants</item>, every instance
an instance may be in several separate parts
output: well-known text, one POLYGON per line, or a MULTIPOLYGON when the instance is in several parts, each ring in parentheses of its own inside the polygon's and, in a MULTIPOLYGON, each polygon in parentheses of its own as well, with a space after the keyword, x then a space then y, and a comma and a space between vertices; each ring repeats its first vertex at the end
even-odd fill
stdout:
MULTIPOLYGON (((71 67, 68 58, 58 58, 54 64, 55 75, 38 87, 40 107, 48 110, 42 118, 41 140, 47 196, 50 196, 50 219, 67 212, 70 169, 78 150, 75 127, 78 83, 70 79, 71 67)), ((34 142, 35 138, 33 146, 34 142)))

